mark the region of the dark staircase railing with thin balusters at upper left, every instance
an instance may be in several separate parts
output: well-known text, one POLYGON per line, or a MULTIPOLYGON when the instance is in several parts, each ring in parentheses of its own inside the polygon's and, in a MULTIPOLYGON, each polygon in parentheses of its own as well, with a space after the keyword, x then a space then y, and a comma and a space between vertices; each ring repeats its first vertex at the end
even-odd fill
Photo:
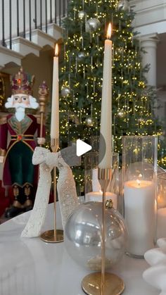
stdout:
POLYGON ((0 42, 12 49, 13 37, 32 40, 32 30, 47 33, 49 24, 61 25, 69 0, 0 0, 0 42), (28 36, 28 37, 27 37, 28 36))

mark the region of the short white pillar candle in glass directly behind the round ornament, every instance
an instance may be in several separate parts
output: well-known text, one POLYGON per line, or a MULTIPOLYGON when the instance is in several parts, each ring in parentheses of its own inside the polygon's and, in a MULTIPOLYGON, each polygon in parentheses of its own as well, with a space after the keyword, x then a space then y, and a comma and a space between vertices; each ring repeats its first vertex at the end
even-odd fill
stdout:
MULTIPOLYGON (((112 192, 106 192, 106 201, 110 199, 113 201, 113 208, 117 209, 117 195, 112 192)), ((89 192, 85 194, 85 201, 102 202, 103 194, 102 192, 89 192)))

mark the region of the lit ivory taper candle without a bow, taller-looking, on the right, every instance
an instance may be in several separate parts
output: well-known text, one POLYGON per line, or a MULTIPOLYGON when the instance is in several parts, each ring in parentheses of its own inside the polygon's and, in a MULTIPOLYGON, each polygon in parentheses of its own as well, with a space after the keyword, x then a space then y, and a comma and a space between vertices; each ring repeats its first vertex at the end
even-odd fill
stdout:
POLYGON ((106 143, 106 153, 102 158, 103 141, 100 141, 99 168, 110 168, 112 157, 112 41, 111 24, 108 26, 107 39, 104 46, 103 88, 101 100, 101 134, 106 143))

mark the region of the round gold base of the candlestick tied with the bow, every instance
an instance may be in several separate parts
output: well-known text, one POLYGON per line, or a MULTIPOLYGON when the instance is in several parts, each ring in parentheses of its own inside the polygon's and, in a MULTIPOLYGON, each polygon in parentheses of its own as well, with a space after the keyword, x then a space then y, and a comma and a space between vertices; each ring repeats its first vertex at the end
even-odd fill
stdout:
POLYGON ((56 234, 54 230, 46 230, 40 235, 40 239, 47 243, 60 243, 64 241, 63 230, 56 230, 56 234))

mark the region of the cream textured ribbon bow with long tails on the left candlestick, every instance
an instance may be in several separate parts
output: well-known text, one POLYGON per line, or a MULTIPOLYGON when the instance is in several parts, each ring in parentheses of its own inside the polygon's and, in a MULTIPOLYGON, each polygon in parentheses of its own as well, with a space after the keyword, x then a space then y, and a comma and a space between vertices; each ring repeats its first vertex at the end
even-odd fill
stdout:
POLYGON ((46 209, 49 203, 51 170, 54 166, 59 169, 57 189, 63 228, 70 213, 78 206, 72 170, 63 160, 60 151, 58 153, 51 153, 48 149, 36 147, 32 157, 32 163, 34 165, 40 164, 39 183, 34 208, 21 237, 38 237, 41 233, 41 227, 44 224, 46 209))

